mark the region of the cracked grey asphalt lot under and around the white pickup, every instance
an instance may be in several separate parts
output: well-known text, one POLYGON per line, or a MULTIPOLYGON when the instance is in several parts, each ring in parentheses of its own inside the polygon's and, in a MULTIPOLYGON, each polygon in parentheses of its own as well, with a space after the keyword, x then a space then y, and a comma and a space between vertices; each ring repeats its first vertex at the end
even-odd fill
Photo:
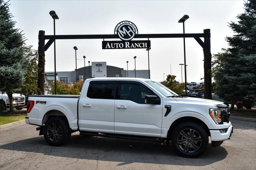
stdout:
POLYGON ((72 134, 49 146, 36 126, 0 130, 0 169, 256 169, 256 122, 232 120, 234 133, 198 158, 178 156, 160 142, 72 134))

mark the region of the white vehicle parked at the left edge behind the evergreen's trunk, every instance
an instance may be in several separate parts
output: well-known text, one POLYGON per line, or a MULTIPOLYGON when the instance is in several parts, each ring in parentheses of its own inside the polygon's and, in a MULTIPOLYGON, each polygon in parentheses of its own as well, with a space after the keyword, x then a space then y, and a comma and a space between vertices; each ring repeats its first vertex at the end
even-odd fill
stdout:
MULTIPOLYGON (((10 108, 10 100, 6 93, 0 92, 0 102, 4 109, 10 108)), ((12 94, 13 107, 17 110, 21 110, 25 106, 25 96, 21 94, 12 94)))

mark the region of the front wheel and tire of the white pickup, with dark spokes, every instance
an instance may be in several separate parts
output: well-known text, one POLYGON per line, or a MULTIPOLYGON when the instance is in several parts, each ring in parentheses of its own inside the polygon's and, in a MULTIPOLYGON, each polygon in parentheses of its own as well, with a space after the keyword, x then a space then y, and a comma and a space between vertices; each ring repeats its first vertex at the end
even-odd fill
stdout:
POLYGON ((172 146, 178 154, 187 158, 202 155, 209 143, 206 130, 194 122, 184 122, 178 125, 174 129, 171 139, 172 146))

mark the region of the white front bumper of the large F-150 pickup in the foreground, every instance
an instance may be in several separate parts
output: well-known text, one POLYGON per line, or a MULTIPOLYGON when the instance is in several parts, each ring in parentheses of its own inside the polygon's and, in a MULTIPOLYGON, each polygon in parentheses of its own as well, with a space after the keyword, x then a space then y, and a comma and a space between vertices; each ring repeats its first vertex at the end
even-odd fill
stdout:
POLYGON ((210 130, 212 141, 223 141, 230 138, 233 133, 233 126, 230 124, 226 133, 220 133, 220 130, 210 130))

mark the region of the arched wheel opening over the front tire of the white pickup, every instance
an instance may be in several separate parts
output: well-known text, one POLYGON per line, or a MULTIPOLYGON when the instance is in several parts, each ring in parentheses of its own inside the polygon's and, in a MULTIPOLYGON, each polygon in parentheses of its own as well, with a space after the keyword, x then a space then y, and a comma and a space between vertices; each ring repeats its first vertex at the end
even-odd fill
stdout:
POLYGON ((198 123, 200 126, 202 126, 206 130, 206 133, 208 134, 208 136, 211 136, 208 126, 202 120, 200 120, 196 117, 186 116, 186 117, 180 117, 172 123, 172 125, 170 126, 170 128, 168 130, 167 137, 170 138, 170 136, 172 135, 172 132, 174 131, 175 127, 178 126, 180 123, 183 123, 183 122, 198 123))

